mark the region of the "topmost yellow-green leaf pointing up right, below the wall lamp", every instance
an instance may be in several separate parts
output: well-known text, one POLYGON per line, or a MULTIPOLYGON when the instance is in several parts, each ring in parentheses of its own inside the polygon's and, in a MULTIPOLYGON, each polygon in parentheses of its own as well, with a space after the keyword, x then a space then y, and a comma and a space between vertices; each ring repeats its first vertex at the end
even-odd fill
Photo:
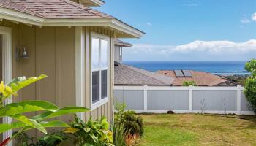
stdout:
POLYGON ((31 85, 34 82, 37 82, 38 80, 42 80, 45 77, 48 77, 45 74, 40 75, 39 77, 30 77, 29 79, 26 80, 20 80, 19 78, 16 78, 15 80, 12 80, 8 85, 12 88, 12 91, 17 92, 20 89, 31 85))

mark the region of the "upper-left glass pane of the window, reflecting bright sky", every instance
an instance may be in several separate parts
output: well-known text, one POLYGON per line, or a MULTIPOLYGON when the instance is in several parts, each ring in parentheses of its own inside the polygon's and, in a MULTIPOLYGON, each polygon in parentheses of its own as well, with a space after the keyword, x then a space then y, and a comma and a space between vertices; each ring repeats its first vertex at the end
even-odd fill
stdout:
POLYGON ((92 69, 99 69, 99 39, 92 38, 91 51, 91 67, 92 69))

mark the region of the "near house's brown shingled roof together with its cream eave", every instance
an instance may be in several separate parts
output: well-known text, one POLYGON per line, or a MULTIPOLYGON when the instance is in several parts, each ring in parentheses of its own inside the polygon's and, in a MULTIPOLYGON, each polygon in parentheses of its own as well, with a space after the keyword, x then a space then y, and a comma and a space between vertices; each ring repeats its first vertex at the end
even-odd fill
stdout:
POLYGON ((111 15, 69 0, 1 0, 0 18, 35 26, 105 26, 118 37, 144 33, 111 15))

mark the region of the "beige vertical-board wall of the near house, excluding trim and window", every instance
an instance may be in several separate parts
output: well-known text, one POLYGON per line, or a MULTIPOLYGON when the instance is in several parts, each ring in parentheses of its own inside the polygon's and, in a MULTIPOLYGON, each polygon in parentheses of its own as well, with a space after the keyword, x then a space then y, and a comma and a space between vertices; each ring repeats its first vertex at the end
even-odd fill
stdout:
MULTIPOLYGON (((14 101, 46 100, 59 107, 75 105, 75 27, 42 27, 16 24, 7 20, 0 22, 0 26, 12 28, 12 77, 38 76, 47 74, 48 78, 30 85, 20 91, 14 101), (15 48, 26 47, 29 59, 15 61, 15 48)), ((110 37, 110 91, 109 102, 86 113, 86 118, 94 119, 106 116, 112 120, 113 115, 113 37, 114 32, 97 27, 86 27, 86 107, 90 107, 91 94, 91 61, 90 37, 91 31, 110 37)), ((62 118, 69 120, 71 116, 62 118)))

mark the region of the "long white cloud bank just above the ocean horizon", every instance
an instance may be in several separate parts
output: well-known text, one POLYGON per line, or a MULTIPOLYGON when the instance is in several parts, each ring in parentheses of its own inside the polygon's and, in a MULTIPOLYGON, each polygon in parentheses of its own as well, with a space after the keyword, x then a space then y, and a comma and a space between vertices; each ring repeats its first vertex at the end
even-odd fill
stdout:
POLYGON ((213 61, 249 60, 256 57, 256 39, 246 42, 194 41, 184 45, 135 44, 124 49, 124 60, 213 61))

